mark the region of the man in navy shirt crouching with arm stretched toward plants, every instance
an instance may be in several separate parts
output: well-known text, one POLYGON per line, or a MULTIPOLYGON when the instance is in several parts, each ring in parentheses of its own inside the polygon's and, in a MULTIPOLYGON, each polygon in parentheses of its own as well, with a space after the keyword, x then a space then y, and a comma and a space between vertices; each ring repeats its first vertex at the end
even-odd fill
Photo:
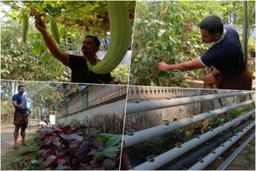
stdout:
POLYGON ((215 15, 204 18, 199 26, 202 41, 214 42, 214 45, 201 57, 189 62, 174 65, 159 62, 156 64, 158 70, 186 71, 209 67, 213 72, 204 79, 206 89, 217 85, 218 89, 250 90, 252 77, 246 68, 238 33, 229 26, 224 27, 222 20, 215 15))

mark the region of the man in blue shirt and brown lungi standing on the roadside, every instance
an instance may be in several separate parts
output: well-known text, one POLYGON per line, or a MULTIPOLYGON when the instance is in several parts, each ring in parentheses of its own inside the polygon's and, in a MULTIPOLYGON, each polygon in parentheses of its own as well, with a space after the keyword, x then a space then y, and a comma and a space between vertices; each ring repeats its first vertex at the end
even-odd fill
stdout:
POLYGON ((18 149, 18 130, 19 128, 22 128, 21 135, 22 135, 22 145, 26 145, 25 137, 26 137, 26 127, 28 124, 28 118, 27 118, 27 111, 29 113, 30 109, 26 106, 26 97, 23 96, 25 89, 23 85, 18 85, 18 93, 16 93, 12 100, 13 105, 15 108, 14 113, 14 149, 18 149))

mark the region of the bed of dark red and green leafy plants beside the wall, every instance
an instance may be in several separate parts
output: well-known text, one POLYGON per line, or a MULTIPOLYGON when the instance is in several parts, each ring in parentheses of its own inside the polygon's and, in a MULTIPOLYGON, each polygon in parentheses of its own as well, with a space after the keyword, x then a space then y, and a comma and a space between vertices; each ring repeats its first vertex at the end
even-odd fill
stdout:
POLYGON ((87 127, 72 129, 66 125, 39 129, 34 139, 41 142, 37 151, 42 154, 42 166, 58 170, 118 169, 122 135, 94 133, 84 136, 82 129, 87 127))

